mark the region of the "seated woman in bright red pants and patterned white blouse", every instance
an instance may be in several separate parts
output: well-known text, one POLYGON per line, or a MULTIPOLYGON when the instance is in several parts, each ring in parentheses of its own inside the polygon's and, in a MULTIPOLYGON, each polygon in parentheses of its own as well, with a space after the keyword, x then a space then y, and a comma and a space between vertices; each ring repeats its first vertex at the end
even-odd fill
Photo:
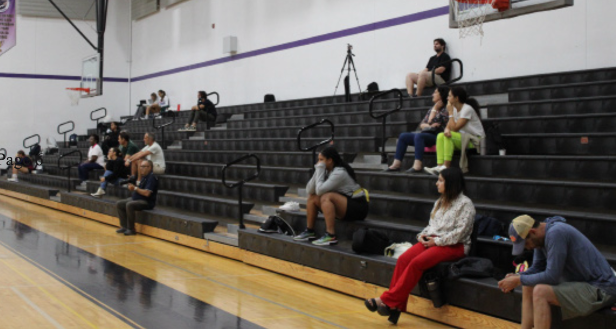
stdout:
POLYGON ((471 250, 475 206, 463 193, 462 171, 445 169, 436 186, 440 197, 434 203, 428 226, 417 235, 417 243, 398 258, 389 290, 380 298, 365 301, 371 312, 389 316, 389 322, 394 324, 400 312, 407 311, 408 295, 425 270, 440 262, 464 258, 471 250))

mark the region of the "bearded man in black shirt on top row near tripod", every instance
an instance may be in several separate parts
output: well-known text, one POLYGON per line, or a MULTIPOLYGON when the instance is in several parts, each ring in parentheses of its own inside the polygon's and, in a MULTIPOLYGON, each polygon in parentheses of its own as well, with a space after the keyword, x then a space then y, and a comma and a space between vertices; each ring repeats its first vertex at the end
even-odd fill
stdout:
POLYGON ((441 63, 445 63, 450 60, 449 55, 445 52, 445 40, 443 39, 434 39, 434 51, 436 51, 436 55, 430 57, 428 61, 428 65, 419 73, 408 73, 407 75, 407 92, 409 97, 413 97, 413 89, 415 84, 417 85, 417 94, 421 96, 424 87, 432 87, 435 84, 438 86, 439 84, 444 84, 449 80, 450 73, 452 71, 452 64, 447 63, 445 65, 441 65, 441 63), (434 81, 432 81, 432 69, 434 69, 434 81))

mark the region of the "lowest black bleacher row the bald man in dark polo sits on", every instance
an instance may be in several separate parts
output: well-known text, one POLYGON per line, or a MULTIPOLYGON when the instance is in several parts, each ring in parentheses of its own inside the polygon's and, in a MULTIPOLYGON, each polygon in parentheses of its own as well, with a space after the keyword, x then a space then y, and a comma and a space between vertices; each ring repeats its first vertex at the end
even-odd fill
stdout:
MULTIPOLYGON (((118 216, 116 201, 109 198, 92 198, 79 193, 62 193, 62 203, 113 217, 118 216)), ((201 214, 179 213, 176 209, 160 206, 152 210, 138 211, 136 221, 195 238, 203 238, 203 234, 213 232, 219 223, 217 219, 204 218, 201 214)))

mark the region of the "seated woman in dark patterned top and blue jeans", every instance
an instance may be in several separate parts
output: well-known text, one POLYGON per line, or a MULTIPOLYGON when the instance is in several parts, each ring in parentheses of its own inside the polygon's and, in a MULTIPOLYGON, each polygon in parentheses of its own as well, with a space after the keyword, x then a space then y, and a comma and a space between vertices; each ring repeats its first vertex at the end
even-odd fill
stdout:
POLYGON ((419 131, 400 134, 398 145, 395 148, 395 160, 385 171, 400 171, 408 145, 415 147, 415 163, 407 170, 407 173, 415 174, 423 171, 424 148, 436 145, 436 136, 444 131, 449 121, 449 114, 445 107, 448 94, 449 87, 440 86, 434 90, 432 94, 434 107, 424 116, 419 124, 419 131))

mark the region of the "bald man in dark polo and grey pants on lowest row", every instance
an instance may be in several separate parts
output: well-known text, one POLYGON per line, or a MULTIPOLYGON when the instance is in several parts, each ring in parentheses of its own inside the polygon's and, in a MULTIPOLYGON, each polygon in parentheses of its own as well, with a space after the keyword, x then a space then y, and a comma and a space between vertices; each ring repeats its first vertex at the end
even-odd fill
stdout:
POLYGON ((140 163, 139 174, 143 177, 142 181, 137 186, 128 184, 132 196, 116 203, 118 217, 120 217, 120 229, 116 232, 124 235, 136 234, 135 218, 137 211, 153 209, 156 205, 158 178, 152 173, 152 161, 144 160, 140 163))

